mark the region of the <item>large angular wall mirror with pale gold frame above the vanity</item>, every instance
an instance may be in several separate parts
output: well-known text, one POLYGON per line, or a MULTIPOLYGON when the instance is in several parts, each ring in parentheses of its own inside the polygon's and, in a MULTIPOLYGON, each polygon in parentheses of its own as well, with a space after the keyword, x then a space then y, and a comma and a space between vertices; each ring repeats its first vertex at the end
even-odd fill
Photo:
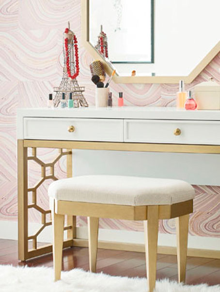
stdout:
POLYGON ((189 83, 220 52, 219 11, 219 0, 82 0, 82 38, 115 82, 189 83))

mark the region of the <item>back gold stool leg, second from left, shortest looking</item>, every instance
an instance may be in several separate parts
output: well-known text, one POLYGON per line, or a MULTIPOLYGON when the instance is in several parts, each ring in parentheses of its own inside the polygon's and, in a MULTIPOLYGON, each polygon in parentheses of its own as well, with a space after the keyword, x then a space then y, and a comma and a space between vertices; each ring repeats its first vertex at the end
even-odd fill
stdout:
POLYGON ((89 269, 96 272, 96 259, 98 247, 98 221, 99 218, 88 217, 88 236, 89 236, 89 269))

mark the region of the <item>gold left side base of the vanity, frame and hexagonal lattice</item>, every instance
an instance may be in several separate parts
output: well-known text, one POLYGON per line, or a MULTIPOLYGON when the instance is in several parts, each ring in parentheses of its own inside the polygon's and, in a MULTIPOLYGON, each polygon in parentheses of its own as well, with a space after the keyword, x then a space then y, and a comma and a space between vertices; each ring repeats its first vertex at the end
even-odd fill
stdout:
MULTIPOLYGON (((37 189, 48 179, 53 181, 58 180, 54 175, 55 164, 63 157, 66 156, 67 165, 67 177, 72 177, 72 150, 63 151, 59 149, 59 155, 51 162, 44 163, 37 157, 37 147, 32 148, 32 155, 28 156, 28 147, 23 146, 23 140, 18 140, 18 258, 20 260, 26 260, 34 256, 40 256, 52 251, 52 245, 46 245, 37 247, 37 237, 41 232, 49 225, 52 224, 51 216, 47 222, 47 214, 51 214, 50 210, 45 210, 37 204, 37 189), (23 162, 22 162, 23 161, 23 162), (41 166, 41 178, 32 187, 28 187, 28 161, 34 161, 41 166), (50 174, 47 175, 47 167, 50 168, 50 174), (22 169, 26 169, 22 173, 22 169), (32 192, 32 201, 28 203, 28 193, 32 192), (41 224, 40 229, 31 236, 28 236, 28 210, 35 209, 41 213, 41 224), (22 211, 21 211, 22 210, 22 211), (23 229, 23 232, 22 230, 23 229), (32 240, 32 249, 29 250, 28 242, 32 240)), ((67 240, 64 241, 63 246, 73 246, 73 238, 76 237, 76 217, 67 216, 67 225, 64 227, 67 230, 67 240)))

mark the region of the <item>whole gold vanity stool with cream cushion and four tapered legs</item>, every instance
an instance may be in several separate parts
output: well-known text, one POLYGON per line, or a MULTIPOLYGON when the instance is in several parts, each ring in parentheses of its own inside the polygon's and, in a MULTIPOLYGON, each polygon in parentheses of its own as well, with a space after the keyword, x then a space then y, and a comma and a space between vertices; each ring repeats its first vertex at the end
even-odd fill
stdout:
POLYGON ((184 181, 91 175, 58 180, 48 189, 55 280, 61 277, 64 215, 88 217, 90 271, 96 272, 99 218, 143 220, 148 292, 156 282, 158 219, 177 218, 179 282, 185 281, 193 187, 184 181))

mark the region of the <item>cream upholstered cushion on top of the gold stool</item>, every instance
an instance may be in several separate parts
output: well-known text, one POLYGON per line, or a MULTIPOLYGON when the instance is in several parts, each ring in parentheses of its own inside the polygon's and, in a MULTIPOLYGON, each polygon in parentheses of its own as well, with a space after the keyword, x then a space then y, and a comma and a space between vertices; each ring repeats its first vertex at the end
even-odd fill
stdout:
POLYGON ((184 181, 142 177, 89 175, 58 180, 48 188, 50 199, 117 205, 170 205, 194 198, 184 181))

